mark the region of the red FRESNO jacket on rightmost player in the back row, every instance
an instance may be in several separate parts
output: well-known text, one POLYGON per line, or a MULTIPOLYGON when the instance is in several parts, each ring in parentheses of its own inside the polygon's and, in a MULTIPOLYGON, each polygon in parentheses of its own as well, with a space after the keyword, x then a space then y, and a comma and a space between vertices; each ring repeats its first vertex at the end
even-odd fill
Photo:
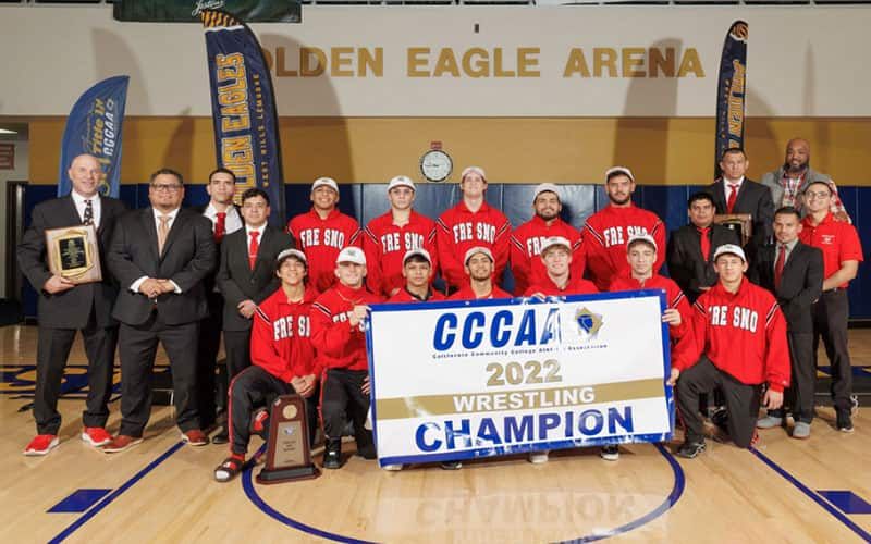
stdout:
POLYGON ((611 282, 629 272, 626 243, 634 234, 647 233, 657 240, 659 272, 665 262, 665 225, 655 213, 636 206, 608 206, 587 219, 584 225, 584 252, 587 270, 599 290, 608 290, 611 282))

